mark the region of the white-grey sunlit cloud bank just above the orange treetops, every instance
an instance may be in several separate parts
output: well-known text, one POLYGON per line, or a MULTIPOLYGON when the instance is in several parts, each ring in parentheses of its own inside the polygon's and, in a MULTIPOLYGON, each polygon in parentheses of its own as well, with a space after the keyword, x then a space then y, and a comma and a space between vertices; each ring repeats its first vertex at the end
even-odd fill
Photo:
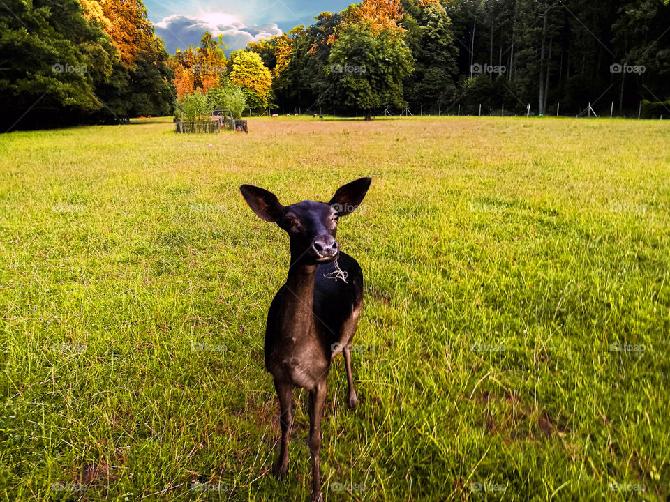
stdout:
POLYGON ((282 31, 275 23, 245 26, 239 17, 227 13, 207 13, 198 17, 174 14, 154 24, 156 35, 163 38, 165 49, 174 54, 179 47, 200 45, 205 31, 213 36, 223 35, 223 43, 228 46, 226 54, 244 49, 249 42, 281 35, 282 31))

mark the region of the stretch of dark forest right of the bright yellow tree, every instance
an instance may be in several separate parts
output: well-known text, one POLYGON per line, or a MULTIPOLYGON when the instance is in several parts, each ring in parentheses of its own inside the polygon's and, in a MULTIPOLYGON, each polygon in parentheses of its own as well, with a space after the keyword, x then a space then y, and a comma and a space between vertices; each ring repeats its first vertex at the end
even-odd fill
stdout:
POLYGON ((670 116, 669 20, 669 0, 363 0, 247 49, 287 111, 670 116))

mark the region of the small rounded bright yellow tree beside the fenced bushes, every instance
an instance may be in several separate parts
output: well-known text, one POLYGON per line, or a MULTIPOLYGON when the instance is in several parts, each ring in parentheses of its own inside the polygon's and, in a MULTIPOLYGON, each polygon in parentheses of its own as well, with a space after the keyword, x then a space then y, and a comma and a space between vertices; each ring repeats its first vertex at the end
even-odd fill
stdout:
POLYGON ((249 107, 253 109, 267 107, 272 75, 257 53, 240 50, 230 54, 228 79, 230 84, 242 89, 249 107))

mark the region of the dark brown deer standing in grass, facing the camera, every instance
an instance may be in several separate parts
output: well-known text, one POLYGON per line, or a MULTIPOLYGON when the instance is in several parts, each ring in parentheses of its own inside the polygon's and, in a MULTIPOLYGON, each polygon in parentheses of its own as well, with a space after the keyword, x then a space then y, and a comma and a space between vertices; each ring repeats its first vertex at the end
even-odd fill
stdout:
POLYGON ((322 502, 320 482, 321 417, 332 360, 343 354, 347 374, 347 404, 358 397, 351 372, 351 342, 363 304, 363 272, 358 262, 339 248, 338 220, 355 211, 370 188, 371 178, 341 186, 330 201, 305 200, 290 206, 253 185, 239 190, 251 210, 276 223, 289 237, 290 266, 286 282, 272 300, 265 328, 265 370, 272 375, 279 401, 281 445, 274 476, 288 473, 288 445, 293 424, 293 391, 308 390, 311 452, 311 501, 322 502))

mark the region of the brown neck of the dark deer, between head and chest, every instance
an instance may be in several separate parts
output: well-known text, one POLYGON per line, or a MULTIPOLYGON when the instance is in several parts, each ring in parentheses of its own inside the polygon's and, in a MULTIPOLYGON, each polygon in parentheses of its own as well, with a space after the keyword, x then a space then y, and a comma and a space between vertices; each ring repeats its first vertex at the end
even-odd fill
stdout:
POLYGON ((314 326, 316 265, 292 265, 286 278, 283 313, 285 335, 306 333, 314 326))

